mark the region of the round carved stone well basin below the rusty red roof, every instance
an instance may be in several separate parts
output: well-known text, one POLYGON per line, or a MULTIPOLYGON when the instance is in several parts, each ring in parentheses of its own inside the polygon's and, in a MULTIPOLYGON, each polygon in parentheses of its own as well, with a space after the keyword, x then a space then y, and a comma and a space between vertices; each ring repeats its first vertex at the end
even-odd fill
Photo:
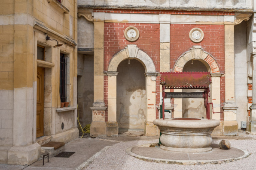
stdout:
POLYGON ((153 123, 162 133, 160 148, 177 152, 210 151, 210 134, 219 126, 219 120, 195 118, 155 119, 153 123))

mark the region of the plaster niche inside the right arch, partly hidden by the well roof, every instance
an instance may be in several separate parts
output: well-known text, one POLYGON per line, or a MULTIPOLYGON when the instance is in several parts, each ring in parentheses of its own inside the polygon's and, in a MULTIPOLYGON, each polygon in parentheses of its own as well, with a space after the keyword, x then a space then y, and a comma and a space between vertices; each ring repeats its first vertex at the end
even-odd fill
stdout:
MULTIPOLYGON (((207 72, 208 69, 200 60, 190 60, 184 67, 183 71, 189 72, 207 72)), ((183 92, 203 92, 203 89, 183 89, 183 92)), ((204 99, 182 99, 182 117, 206 118, 204 99)))

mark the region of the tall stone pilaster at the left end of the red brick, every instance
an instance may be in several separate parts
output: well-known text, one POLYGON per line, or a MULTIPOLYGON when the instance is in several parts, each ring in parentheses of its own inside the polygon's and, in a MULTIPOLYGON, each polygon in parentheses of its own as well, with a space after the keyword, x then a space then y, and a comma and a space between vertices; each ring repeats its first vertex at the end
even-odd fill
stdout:
POLYGON ((104 103, 104 12, 94 13, 94 103, 91 136, 106 135, 104 103))

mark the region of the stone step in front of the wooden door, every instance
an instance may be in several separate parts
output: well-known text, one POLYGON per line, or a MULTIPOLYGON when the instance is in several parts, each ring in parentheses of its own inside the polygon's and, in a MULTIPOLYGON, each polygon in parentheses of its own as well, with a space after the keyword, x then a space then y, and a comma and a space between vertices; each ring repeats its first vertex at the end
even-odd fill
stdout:
POLYGON ((49 156, 58 155, 64 149, 64 142, 49 142, 41 146, 40 157, 43 158, 43 155, 46 155, 47 153, 49 153, 49 156))

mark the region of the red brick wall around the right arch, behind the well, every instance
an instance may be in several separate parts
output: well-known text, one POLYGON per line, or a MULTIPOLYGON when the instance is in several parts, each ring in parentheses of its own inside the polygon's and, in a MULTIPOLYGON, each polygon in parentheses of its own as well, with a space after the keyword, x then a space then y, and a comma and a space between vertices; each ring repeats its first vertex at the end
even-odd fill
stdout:
MULTIPOLYGON (((170 62, 171 69, 179 57, 194 45, 200 45, 204 51, 210 53, 219 64, 221 73, 225 71, 224 49, 224 25, 195 25, 195 24, 171 24, 170 62), (198 27, 204 32, 204 39, 200 43, 194 43, 189 39, 189 31, 198 27)), ((225 77, 220 78, 220 100, 225 102, 225 77)), ((222 109, 222 108, 221 108, 222 109)), ((221 114, 223 120, 223 114, 221 114)))

